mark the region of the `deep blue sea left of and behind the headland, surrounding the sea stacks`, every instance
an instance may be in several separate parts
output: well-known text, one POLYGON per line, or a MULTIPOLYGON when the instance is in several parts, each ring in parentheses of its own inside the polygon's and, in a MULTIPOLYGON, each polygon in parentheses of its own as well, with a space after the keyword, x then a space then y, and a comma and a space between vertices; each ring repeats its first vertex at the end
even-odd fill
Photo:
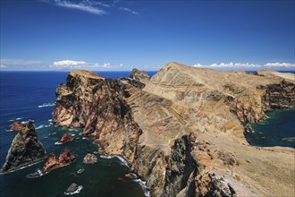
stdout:
MULTIPOLYGON (((116 79, 127 77, 130 72, 97 72, 99 75, 116 79)), ((150 72, 150 75, 156 72, 150 72)), ((58 155, 63 148, 69 147, 76 156, 70 166, 53 170, 46 176, 27 178, 45 161, 31 167, 0 175, 0 196, 63 196, 73 183, 83 186, 75 196, 145 196, 139 180, 131 180, 124 175, 129 173, 119 158, 98 158, 97 164, 84 165, 82 159, 87 153, 98 150, 91 140, 81 139, 78 129, 57 127, 51 123, 54 107, 39 107, 55 102, 55 89, 65 82, 67 73, 63 72, 0 72, 0 167, 3 167, 7 151, 15 136, 8 132, 13 120, 35 121, 39 140, 47 155, 58 155), (74 134, 74 141, 55 145, 63 133, 74 134), (79 174, 77 171, 84 169, 79 174)))

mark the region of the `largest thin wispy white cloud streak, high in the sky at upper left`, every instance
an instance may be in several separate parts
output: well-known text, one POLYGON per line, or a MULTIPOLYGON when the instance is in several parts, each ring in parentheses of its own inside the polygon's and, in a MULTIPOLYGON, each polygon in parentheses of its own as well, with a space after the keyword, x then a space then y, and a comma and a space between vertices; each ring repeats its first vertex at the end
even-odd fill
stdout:
POLYGON ((55 0, 53 4, 56 4, 61 7, 67 7, 71 9, 76 9, 80 11, 84 11, 87 13, 94 13, 97 15, 105 14, 105 11, 97 6, 94 6, 94 3, 91 1, 81 1, 78 2, 70 2, 70 1, 64 1, 64 0, 55 0))

